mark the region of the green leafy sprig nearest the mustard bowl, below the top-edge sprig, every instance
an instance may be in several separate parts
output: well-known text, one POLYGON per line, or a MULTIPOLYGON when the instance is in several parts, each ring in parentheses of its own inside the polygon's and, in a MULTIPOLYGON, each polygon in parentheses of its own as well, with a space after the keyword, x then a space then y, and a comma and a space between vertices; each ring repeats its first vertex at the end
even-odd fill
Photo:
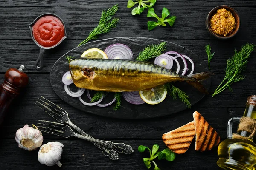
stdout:
POLYGON ((154 21, 148 21, 148 30, 154 29, 156 26, 166 26, 166 23, 169 23, 170 26, 173 26, 176 16, 172 16, 169 18, 166 18, 170 15, 170 12, 167 8, 163 8, 162 10, 162 17, 158 17, 157 14, 154 12, 154 8, 149 8, 148 9, 148 14, 147 17, 154 17, 157 18, 157 22, 154 21))

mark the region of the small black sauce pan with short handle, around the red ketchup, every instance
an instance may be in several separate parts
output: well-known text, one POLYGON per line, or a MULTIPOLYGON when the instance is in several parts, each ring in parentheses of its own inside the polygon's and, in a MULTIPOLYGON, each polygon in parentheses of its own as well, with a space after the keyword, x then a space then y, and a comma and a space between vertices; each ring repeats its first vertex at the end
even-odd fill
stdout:
POLYGON ((44 52, 45 52, 46 50, 48 50, 48 49, 51 49, 51 48, 56 47, 56 46, 59 45, 65 38, 67 38, 66 27, 65 27, 65 24, 64 24, 63 20, 61 20, 61 18, 60 18, 58 15, 51 14, 51 13, 47 13, 47 14, 42 14, 42 15, 40 15, 39 17, 37 17, 37 18, 34 20, 33 23, 29 24, 29 28, 30 28, 31 37, 32 37, 33 41, 34 41, 35 44, 38 45, 38 47, 40 48, 38 59, 37 59, 36 62, 35 62, 35 69, 41 70, 41 69, 43 68, 44 52), (64 37, 63 37, 56 45, 53 45, 53 46, 51 46, 51 47, 44 47, 44 46, 38 44, 38 42, 35 40, 35 38, 34 38, 34 36, 33 36, 32 27, 35 25, 35 23, 37 22, 37 20, 39 20, 41 17, 49 16, 49 15, 51 15, 51 16, 53 16, 53 17, 56 17, 56 18, 58 18, 58 19, 61 21, 61 23, 62 23, 63 26, 64 26, 64 37), (40 64, 40 65, 38 66, 38 64, 40 64))

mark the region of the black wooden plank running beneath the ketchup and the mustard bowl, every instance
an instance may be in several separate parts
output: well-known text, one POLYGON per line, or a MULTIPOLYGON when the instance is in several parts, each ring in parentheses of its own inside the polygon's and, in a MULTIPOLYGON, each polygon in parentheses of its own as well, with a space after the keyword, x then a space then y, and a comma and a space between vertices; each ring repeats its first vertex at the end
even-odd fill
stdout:
MULTIPOLYGON (((67 39, 84 39, 89 32, 98 25, 99 18, 104 6, 54 6, 54 7, 2 7, 0 8, 0 39, 28 39, 31 40, 28 25, 32 23, 36 17, 44 13, 57 14, 64 21, 67 31, 67 39), (10 11, 11 10, 11 11, 10 11), (93 13, 93 16, 91 15, 93 13)), ((174 26, 171 28, 157 27, 153 31, 148 31, 147 22, 154 18, 147 18, 147 12, 143 12, 140 16, 132 16, 131 9, 120 6, 116 17, 121 20, 117 28, 114 28, 108 34, 101 38, 110 37, 148 37, 157 39, 199 39, 199 40, 215 40, 209 36, 205 28, 205 20, 207 14, 212 7, 207 6, 178 6, 166 5, 170 9, 171 15, 177 17, 174 26)), ((155 12, 160 16, 163 6, 155 6, 155 12)), ((241 26, 239 32, 233 37, 233 40, 255 40, 254 30, 256 23, 253 18, 256 16, 256 8, 253 7, 236 7, 239 13, 241 26), (250 11, 250 12, 248 12, 250 11), (246 34, 244 34, 246 33, 246 34)), ((67 41, 67 40, 64 40, 67 41)))

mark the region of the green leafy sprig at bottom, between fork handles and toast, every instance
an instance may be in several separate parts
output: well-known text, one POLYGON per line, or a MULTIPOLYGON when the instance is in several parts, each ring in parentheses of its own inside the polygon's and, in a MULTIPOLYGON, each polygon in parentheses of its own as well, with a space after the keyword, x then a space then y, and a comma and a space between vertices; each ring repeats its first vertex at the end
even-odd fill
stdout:
POLYGON ((161 152, 158 152, 158 149, 159 149, 158 144, 153 145, 152 152, 148 147, 143 145, 140 145, 138 148, 139 152, 144 152, 146 149, 148 149, 149 151, 150 158, 143 158, 143 162, 148 169, 151 168, 151 162, 153 162, 154 170, 160 170, 160 168, 157 167, 157 164, 153 161, 153 159, 157 157, 159 160, 166 159, 167 161, 173 161, 176 157, 175 153, 169 150, 168 148, 164 149, 161 152))

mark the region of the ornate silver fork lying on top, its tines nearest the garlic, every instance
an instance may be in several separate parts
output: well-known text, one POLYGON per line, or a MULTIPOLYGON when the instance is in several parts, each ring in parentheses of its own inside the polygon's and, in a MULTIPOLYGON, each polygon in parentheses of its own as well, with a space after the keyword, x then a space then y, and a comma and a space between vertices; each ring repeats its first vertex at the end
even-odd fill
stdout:
POLYGON ((78 133, 75 133, 70 126, 64 125, 61 123, 50 122, 46 120, 38 120, 38 121, 42 122, 42 123, 37 123, 38 130, 40 131, 61 136, 64 138, 74 136, 80 139, 84 139, 90 142, 95 142, 97 144, 104 145, 105 147, 108 147, 108 148, 113 148, 119 151, 120 153, 126 153, 126 154, 133 153, 133 149, 130 145, 126 145, 124 143, 113 143, 111 141, 103 141, 99 139, 90 138, 88 136, 83 136, 78 133))

